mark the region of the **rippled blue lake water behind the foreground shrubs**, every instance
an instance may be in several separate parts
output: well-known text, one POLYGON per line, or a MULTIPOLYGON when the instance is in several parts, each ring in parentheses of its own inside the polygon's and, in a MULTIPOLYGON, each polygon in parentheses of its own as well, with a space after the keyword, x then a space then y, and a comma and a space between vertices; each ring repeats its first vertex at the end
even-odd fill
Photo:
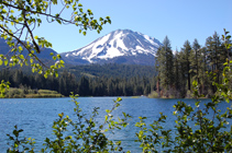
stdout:
MULTIPOLYGON (((93 107, 100 107, 99 120, 103 120, 106 109, 113 106, 113 99, 117 97, 79 97, 77 101, 85 113, 91 113, 93 107)), ((139 121, 140 116, 146 116, 147 121, 153 121, 159 117, 163 111, 167 115, 168 128, 174 128, 173 105, 180 99, 158 99, 158 98, 133 98, 122 97, 121 106, 114 111, 114 116, 120 116, 122 111, 132 116, 130 125, 115 133, 109 136, 112 140, 121 140, 123 150, 130 150, 132 153, 141 152, 139 145, 134 142, 135 132, 139 131, 134 125, 139 121)), ((187 104, 195 105, 194 99, 181 99, 187 104)), ((209 102, 210 99, 202 99, 209 102)), ((223 103, 220 109, 224 110, 229 104, 223 103)), ((37 148, 41 148, 45 138, 52 137, 52 125, 58 118, 58 114, 74 116, 75 105, 70 98, 11 98, 0 99, 0 152, 5 152, 8 149, 7 133, 12 133, 14 126, 18 125, 19 129, 23 129, 23 137, 34 138, 37 142, 37 148)), ((230 122, 232 123, 232 122, 230 122)))

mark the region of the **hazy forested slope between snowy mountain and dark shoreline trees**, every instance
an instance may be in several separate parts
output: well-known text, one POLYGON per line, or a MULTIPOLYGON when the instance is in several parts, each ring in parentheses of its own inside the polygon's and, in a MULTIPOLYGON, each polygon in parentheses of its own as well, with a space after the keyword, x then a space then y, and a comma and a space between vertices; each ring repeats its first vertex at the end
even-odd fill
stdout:
POLYGON ((137 64, 86 64, 86 66, 66 66, 65 69, 79 80, 82 75, 88 78, 104 76, 104 78, 126 78, 146 76, 153 78, 156 73, 154 66, 137 66, 137 64))

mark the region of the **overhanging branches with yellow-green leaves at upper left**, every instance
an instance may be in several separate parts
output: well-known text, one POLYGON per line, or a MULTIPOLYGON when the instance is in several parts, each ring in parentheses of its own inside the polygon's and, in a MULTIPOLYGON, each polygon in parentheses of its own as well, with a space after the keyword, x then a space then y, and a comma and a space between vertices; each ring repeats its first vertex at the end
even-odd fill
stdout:
POLYGON ((92 11, 84 10, 79 0, 0 0, 0 37, 4 38, 11 48, 8 54, 0 54, 0 66, 30 64, 32 72, 44 74, 45 78, 54 74, 58 76, 57 69, 65 63, 59 55, 51 54, 55 60, 52 66, 45 64, 36 56, 42 48, 52 47, 43 36, 33 34, 33 31, 45 22, 76 25, 84 35, 88 30, 100 33, 103 24, 111 23, 109 16, 96 20, 92 11), (55 7, 60 10, 54 9, 55 7), (67 13, 69 19, 64 17, 67 13))

